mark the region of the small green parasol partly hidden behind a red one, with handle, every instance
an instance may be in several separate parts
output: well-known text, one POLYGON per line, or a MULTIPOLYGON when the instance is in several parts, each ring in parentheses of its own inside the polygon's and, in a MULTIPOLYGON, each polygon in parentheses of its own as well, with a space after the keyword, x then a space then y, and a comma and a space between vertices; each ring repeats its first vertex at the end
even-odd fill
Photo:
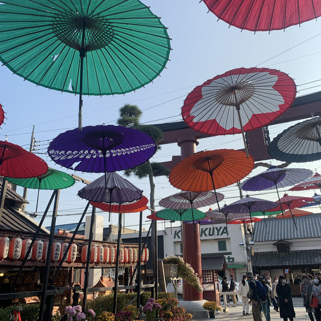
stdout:
POLYGON ((40 190, 62 190, 75 184, 75 179, 67 173, 49 168, 48 172, 42 176, 30 179, 6 178, 10 183, 22 186, 28 189, 38 190, 36 212, 38 210, 38 200, 40 190))

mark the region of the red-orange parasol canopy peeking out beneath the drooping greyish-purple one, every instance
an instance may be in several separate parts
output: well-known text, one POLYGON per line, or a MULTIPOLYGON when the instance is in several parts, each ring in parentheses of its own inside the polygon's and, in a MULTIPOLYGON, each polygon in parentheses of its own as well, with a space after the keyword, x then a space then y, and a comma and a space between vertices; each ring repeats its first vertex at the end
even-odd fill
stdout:
POLYGON ((109 205, 109 203, 104 202, 90 202, 90 204, 94 207, 97 207, 104 212, 112 212, 112 213, 136 213, 141 212, 147 209, 148 199, 143 196, 138 201, 126 202, 121 205, 113 204, 109 205))

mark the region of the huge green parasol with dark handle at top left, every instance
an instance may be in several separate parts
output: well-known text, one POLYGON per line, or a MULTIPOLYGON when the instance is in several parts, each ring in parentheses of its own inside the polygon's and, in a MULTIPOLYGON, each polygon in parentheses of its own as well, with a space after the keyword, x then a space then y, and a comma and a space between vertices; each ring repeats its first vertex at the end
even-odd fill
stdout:
POLYGON ((166 27, 138 0, 4 0, 0 60, 37 86, 124 94, 151 82, 170 54, 166 27))

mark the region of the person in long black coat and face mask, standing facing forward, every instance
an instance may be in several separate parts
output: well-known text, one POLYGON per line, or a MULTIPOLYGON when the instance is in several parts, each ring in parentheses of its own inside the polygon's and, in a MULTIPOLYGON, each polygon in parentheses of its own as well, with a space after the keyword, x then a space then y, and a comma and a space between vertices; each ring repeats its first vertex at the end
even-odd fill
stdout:
POLYGON ((284 275, 280 275, 279 282, 276 285, 276 293, 279 300, 280 317, 283 321, 293 321, 295 317, 295 311, 292 302, 292 292, 288 284, 286 284, 286 278, 284 275))

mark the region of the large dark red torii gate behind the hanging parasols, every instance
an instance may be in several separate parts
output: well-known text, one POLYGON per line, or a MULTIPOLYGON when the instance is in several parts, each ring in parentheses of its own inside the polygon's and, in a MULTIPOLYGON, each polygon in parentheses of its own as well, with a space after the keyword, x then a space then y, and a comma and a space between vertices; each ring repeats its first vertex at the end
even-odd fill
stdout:
MULTIPOLYGON (((269 125, 286 123, 294 120, 301 120, 312 116, 321 116, 321 92, 297 97, 293 105, 280 117, 272 121, 269 125)), ((184 121, 174 123, 154 124, 162 129, 164 139, 160 144, 177 143, 181 147, 181 155, 172 156, 172 161, 164 162, 168 169, 172 170, 175 165, 184 158, 193 155, 196 152, 198 139, 212 137, 195 131, 187 126, 184 121)), ((270 159, 267 153, 268 145, 265 143, 265 136, 262 128, 248 131, 248 150, 255 161, 270 159)), ((183 225, 183 258, 185 262, 191 264, 195 272, 201 277, 202 284, 202 262, 201 262, 201 241, 200 229, 197 225, 196 232, 193 231, 192 224, 183 225), (194 237, 192 237, 192 235, 194 237), (187 250, 188 249, 188 250, 187 250)), ((203 293, 198 292, 194 287, 184 283, 183 299, 185 301, 196 301, 203 299, 203 293)))

